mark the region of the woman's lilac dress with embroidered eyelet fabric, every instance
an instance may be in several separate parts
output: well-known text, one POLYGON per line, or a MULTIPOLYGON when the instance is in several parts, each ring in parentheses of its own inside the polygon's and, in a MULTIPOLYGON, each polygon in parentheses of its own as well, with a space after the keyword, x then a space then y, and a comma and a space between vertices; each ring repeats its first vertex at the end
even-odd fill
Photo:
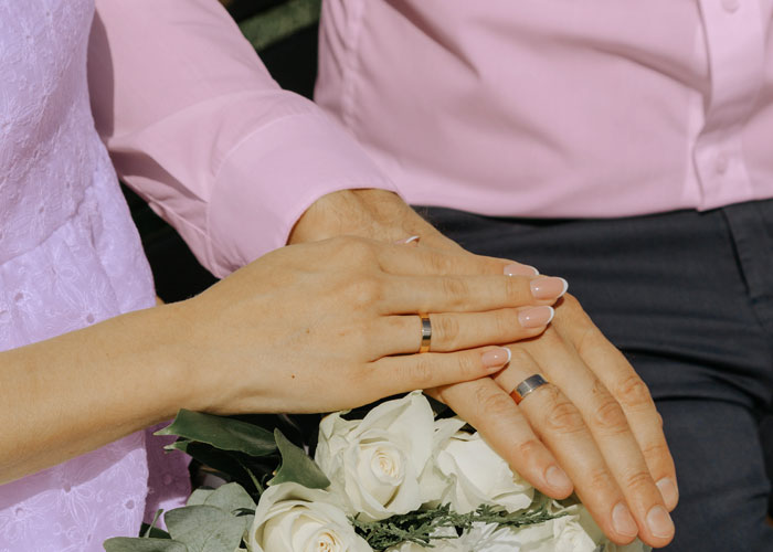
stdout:
MULTIPOLYGON (((153 305, 89 108, 93 14, 94 0, 0 0, 0 350, 153 305)), ((0 486, 0 552, 103 550, 187 495, 184 467, 142 432, 0 486)))

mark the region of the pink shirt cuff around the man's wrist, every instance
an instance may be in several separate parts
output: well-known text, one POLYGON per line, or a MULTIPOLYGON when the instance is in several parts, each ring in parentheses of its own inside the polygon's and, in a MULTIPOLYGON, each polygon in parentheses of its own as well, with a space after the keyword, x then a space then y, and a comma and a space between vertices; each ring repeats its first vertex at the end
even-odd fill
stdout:
POLYGON ((287 243, 319 198, 395 185, 324 114, 288 115, 248 135, 223 160, 209 203, 211 269, 218 277, 287 243))

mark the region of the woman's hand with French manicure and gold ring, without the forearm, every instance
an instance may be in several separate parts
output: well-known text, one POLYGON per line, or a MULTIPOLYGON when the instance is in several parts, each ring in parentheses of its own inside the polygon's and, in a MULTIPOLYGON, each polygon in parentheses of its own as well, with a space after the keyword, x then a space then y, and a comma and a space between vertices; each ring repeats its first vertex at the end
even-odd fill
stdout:
POLYGON ((509 352, 483 346, 538 336, 565 289, 508 265, 358 237, 275 251, 184 307, 195 407, 329 412, 490 375, 509 352), (419 312, 433 330, 421 354, 419 312))

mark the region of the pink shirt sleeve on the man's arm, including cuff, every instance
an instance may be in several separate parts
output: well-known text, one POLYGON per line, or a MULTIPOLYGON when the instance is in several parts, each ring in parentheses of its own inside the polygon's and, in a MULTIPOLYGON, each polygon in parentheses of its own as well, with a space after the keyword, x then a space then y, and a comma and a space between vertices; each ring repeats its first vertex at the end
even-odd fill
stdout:
POLYGON ((284 245, 320 197, 396 191, 314 103, 283 91, 215 0, 97 0, 92 109, 120 178, 223 277, 284 245))

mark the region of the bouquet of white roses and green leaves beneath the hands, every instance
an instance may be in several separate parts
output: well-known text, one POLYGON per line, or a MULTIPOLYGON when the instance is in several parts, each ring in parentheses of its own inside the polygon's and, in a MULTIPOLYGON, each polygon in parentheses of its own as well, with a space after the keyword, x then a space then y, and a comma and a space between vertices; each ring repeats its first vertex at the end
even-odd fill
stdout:
POLYGON ((319 425, 314 459, 275 428, 182 411, 171 445, 233 482, 197 489, 168 532, 105 542, 107 552, 642 552, 608 542, 576 501, 554 501, 510 470, 458 417, 421 393, 362 418, 319 425), (277 455, 278 453, 278 455, 277 455), (277 467, 277 464, 280 465, 277 467))

